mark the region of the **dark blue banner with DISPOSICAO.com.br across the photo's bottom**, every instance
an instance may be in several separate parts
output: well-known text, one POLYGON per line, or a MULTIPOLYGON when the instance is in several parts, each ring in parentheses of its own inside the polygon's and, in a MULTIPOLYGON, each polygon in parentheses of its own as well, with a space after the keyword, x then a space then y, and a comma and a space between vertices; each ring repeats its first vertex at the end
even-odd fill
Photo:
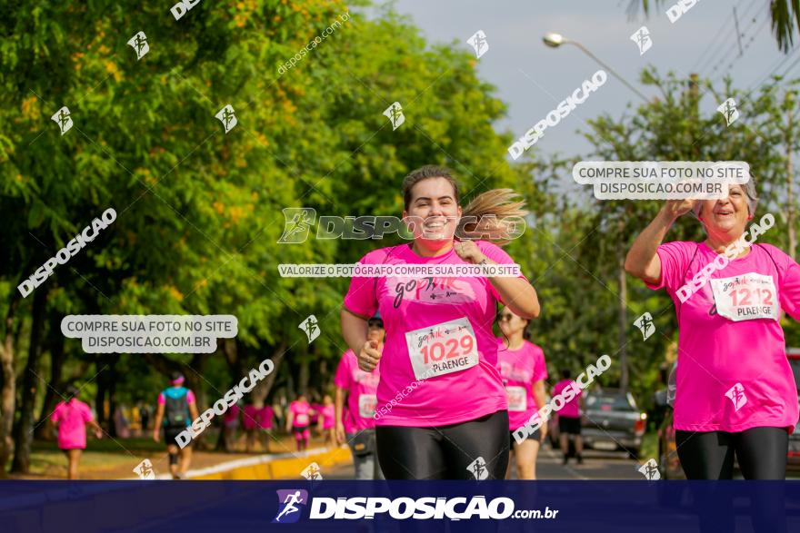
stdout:
POLYGON ((797 481, 0 481, 0 531, 800 531, 797 481))

